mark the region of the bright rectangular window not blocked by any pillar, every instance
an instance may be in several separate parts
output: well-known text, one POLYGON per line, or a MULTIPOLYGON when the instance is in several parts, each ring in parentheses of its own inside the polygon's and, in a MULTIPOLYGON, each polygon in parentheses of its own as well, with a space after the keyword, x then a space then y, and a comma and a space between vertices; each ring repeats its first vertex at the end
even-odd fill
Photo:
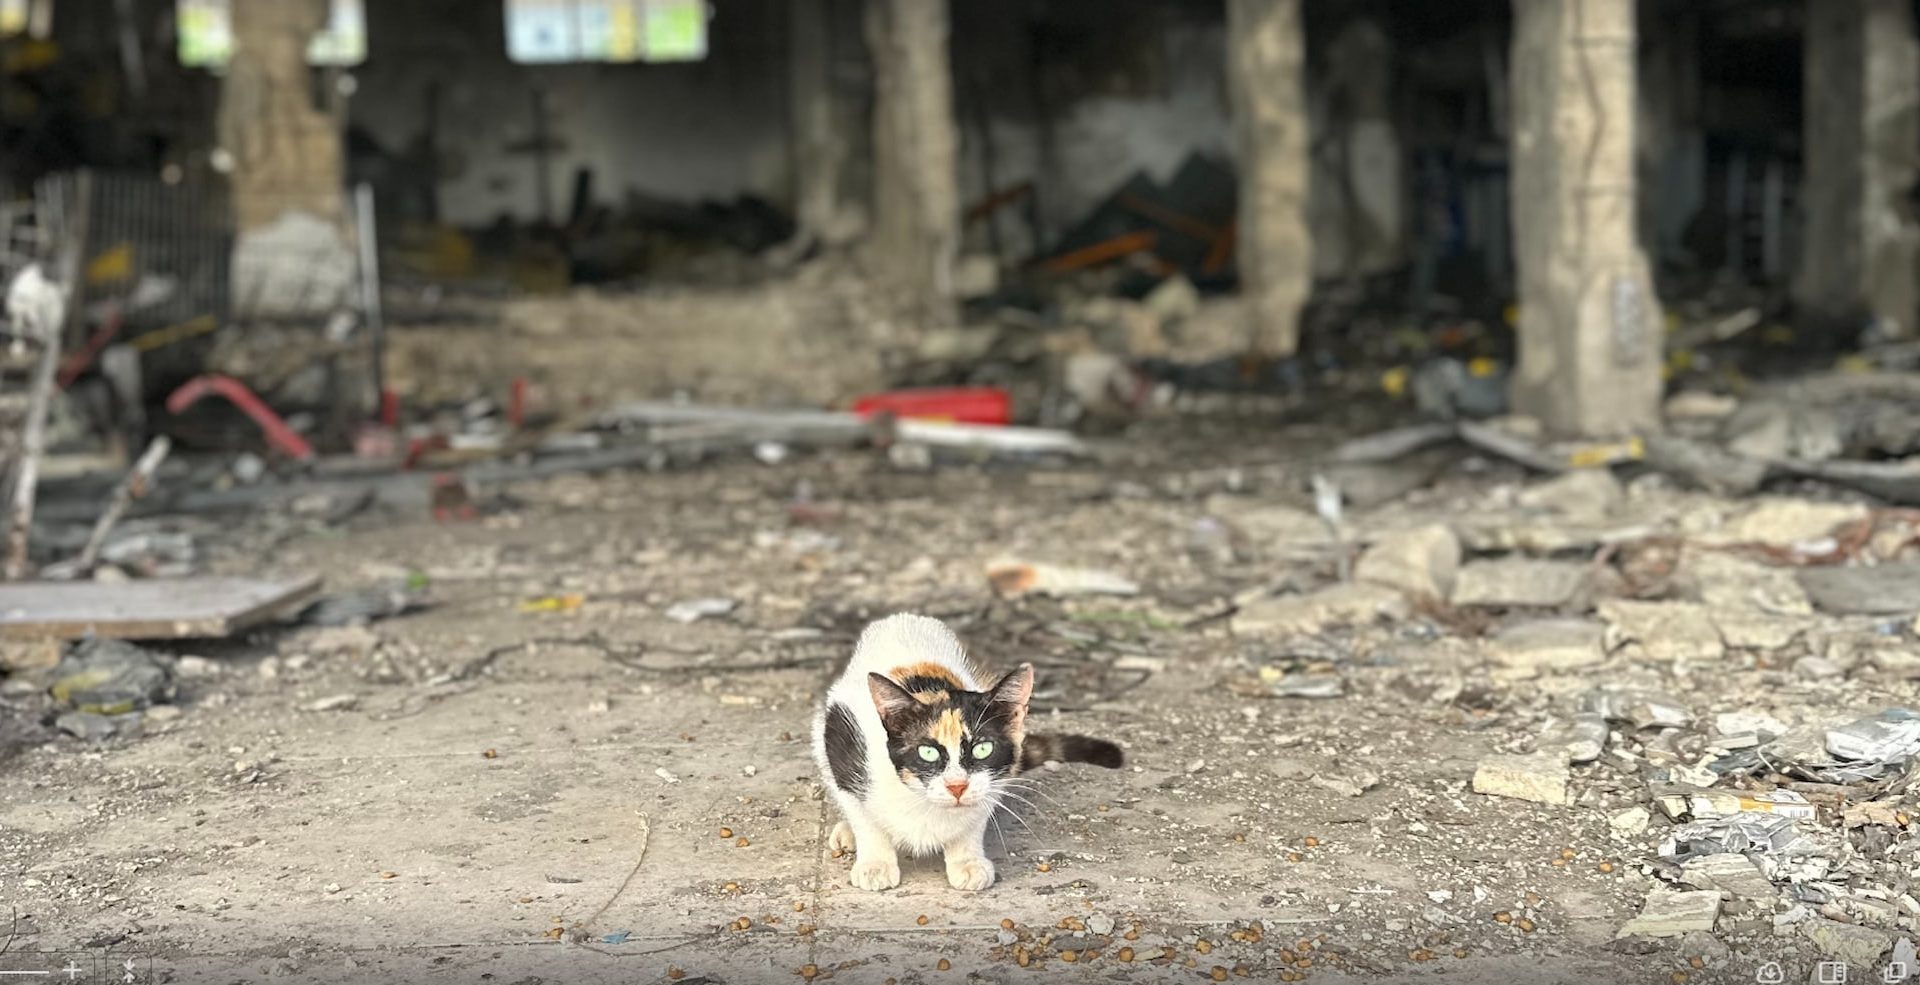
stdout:
POLYGON ((507 56, 522 63, 699 61, 707 0, 507 0, 507 56))

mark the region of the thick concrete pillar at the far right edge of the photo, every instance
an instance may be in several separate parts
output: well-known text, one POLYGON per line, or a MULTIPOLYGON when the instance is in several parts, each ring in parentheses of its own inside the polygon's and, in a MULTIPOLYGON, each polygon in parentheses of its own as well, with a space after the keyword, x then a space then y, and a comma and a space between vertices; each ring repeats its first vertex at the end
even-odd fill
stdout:
POLYGON ((1805 230, 1793 300, 1818 319, 1912 336, 1920 228, 1920 46, 1907 0, 1807 0, 1805 230))

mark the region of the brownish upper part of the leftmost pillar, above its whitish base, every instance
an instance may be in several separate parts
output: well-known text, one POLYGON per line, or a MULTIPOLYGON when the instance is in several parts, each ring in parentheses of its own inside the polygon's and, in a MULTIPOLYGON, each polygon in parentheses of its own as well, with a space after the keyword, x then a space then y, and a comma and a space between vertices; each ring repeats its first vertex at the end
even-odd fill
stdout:
POLYGON ((219 136, 232 156, 240 232, 286 211, 330 223, 346 215, 342 123, 315 106, 307 69, 307 42, 324 23, 324 0, 232 2, 219 136))

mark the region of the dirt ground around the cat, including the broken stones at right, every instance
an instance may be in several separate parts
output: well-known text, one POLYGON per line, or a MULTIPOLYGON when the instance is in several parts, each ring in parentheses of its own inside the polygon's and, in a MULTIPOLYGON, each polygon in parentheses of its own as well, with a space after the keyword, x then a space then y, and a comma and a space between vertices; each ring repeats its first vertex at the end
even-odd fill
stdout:
POLYGON ((1899 563, 1907 515, 1453 455, 1329 472, 1350 499, 1329 524, 1306 467, 1325 436, 1254 434, 1066 470, 835 453, 553 478, 476 522, 194 526, 209 570, 417 572, 430 605, 161 647, 177 695, 98 743, 52 728, 52 670, 6 678, 0 970, 1751 983, 1872 981, 1901 954, 1901 768, 1728 760, 1916 701, 1912 613, 1836 613, 1801 580, 1899 563), (1139 593, 998 597, 1000 557, 1139 593), (695 599, 732 605, 687 622, 695 599), (947 618, 989 668, 1033 661, 1039 728, 1129 755, 1046 772, 981 893, 937 860, 852 889, 826 843, 810 714, 895 611, 947 618), (1601 705, 1605 749, 1571 753, 1601 705), (1816 816, 1709 874, 1663 851, 1707 837, 1661 806, 1688 783, 1747 797, 1738 818, 1782 789, 1816 816), (1630 925, 1649 899, 1688 914, 1630 925))

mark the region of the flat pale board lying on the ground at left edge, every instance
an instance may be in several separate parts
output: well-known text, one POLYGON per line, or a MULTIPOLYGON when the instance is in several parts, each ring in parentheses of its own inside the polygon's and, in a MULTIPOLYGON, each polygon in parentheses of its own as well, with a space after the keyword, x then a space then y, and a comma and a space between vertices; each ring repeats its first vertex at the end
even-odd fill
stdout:
POLYGON ((0 639, 188 639, 232 636, 311 601, 305 578, 150 578, 0 584, 0 639))

